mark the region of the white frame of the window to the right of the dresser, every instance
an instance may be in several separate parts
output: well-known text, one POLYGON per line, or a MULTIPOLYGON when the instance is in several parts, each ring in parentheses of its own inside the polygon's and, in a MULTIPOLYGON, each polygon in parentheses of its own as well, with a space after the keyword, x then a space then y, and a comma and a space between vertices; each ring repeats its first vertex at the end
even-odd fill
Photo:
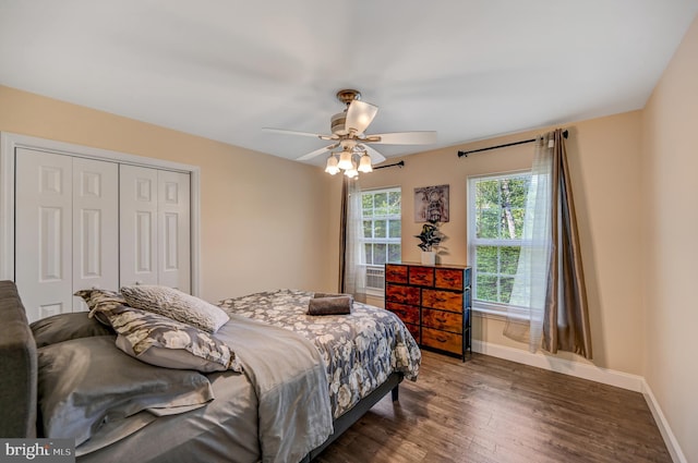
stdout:
POLYGON ((518 243, 518 246, 526 244, 526 240, 502 240, 502 239, 479 239, 476 236, 476 221, 477 221, 477 207, 476 207, 476 185, 481 180, 502 180, 512 179, 521 175, 531 176, 531 169, 520 169, 505 172, 493 172, 484 174, 468 175, 467 192, 468 192, 468 256, 472 267, 472 309, 486 315, 493 315, 495 318, 501 316, 508 316, 512 318, 518 318, 521 320, 528 320, 530 310, 528 307, 507 304, 502 302, 481 301, 476 298, 477 284, 478 284, 478 269, 477 269, 477 251, 476 246, 493 245, 497 247, 510 246, 513 242, 518 243))

